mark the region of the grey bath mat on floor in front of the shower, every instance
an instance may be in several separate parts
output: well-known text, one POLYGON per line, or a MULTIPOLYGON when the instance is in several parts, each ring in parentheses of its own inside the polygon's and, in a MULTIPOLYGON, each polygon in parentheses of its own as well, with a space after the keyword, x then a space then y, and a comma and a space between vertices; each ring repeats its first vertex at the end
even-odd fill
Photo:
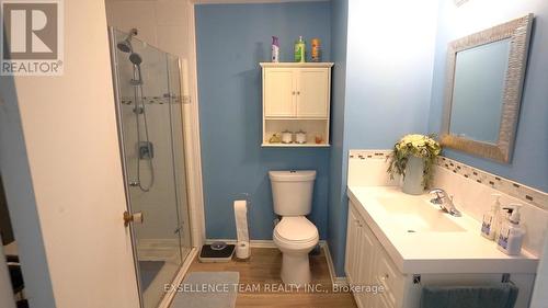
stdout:
POLYGON ((233 308, 238 272, 192 272, 181 283, 171 308, 233 308))

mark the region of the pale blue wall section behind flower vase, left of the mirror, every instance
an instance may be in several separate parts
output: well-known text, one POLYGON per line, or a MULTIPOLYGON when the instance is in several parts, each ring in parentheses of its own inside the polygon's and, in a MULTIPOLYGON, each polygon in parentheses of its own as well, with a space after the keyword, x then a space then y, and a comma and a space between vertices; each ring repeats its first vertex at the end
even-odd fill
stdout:
POLYGON ((388 149, 406 134, 426 133, 436 15, 433 1, 350 1, 349 149, 388 149))

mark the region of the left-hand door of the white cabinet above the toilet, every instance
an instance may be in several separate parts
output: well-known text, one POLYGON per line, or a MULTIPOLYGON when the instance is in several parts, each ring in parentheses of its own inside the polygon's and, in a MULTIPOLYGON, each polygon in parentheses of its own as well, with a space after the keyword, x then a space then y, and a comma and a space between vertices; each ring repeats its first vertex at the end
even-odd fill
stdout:
POLYGON ((296 70, 267 68, 264 70, 264 116, 295 117, 296 70))

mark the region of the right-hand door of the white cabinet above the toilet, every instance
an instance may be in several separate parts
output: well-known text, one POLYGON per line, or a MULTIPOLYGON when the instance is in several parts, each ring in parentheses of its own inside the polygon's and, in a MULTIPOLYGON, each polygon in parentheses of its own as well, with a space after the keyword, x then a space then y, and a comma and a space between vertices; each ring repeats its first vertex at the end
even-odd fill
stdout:
POLYGON ((329 68, 301 68, 297 79, 297 116, 328 117, 329 68))

